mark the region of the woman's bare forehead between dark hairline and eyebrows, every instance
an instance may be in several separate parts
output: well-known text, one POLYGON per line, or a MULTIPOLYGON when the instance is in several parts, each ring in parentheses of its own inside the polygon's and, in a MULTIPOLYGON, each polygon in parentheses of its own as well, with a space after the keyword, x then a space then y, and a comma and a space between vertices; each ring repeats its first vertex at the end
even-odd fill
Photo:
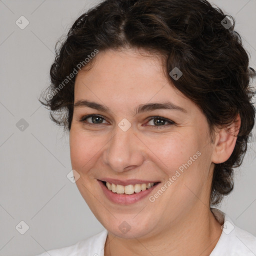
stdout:
POLYGON ((159 101, 180 108, 192 104, 171 83, 161 56, 136 49, 99 51, 89 68, 78 72, 74 97, 129 108, 159 101))

